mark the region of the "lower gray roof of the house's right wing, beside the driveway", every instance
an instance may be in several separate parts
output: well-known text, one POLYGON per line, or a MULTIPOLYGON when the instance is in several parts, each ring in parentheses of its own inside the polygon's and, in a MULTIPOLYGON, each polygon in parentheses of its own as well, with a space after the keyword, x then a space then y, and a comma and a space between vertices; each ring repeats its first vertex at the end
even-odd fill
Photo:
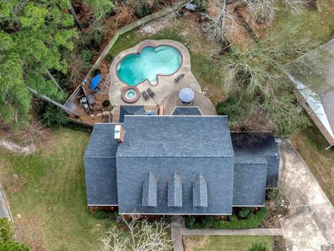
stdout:
POLYGON ((234 206, 261 206, 265 189, 276 188, 280 159, 269 132, 232 132, 234 206))

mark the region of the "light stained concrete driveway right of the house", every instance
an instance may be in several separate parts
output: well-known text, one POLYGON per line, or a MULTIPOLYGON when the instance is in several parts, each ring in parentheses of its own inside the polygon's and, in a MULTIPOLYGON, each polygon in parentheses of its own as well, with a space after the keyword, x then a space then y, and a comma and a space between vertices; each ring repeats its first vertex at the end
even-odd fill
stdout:
POLYGON ((280 144, 280 156, 280 189, 292 205, 280 219, 288 250, 334 251, 333 205, 289 140, 280 144))

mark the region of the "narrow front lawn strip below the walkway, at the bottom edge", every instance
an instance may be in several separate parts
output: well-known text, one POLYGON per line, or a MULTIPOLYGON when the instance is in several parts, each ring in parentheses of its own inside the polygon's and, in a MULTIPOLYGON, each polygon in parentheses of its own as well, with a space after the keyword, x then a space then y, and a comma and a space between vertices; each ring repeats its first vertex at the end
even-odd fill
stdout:
POLYGON ((267 243, 273 250, 273 236, 183 236, 185 251, 247 251, 252 243, 267 243))

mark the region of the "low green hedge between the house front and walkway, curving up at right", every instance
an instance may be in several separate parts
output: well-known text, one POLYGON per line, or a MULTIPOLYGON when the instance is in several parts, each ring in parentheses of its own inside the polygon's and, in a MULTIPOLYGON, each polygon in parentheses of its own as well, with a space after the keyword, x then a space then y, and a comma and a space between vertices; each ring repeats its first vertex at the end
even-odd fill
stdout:
POLYGON ((256 228, 260 225, 264 217, 268 213, 268 208, 263 207, 257 213, 252 214, 251 217, 248 217, 245 220, 234 220, 225 221, 225 220, 218 220, 214 222, 214 229, 250 229, 256 228))

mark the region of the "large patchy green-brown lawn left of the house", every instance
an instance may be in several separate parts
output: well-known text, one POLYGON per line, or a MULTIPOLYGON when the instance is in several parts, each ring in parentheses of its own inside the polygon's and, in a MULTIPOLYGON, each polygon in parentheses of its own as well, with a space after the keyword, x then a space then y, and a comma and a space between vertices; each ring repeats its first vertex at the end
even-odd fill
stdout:
POLYGON ((52 130, 40 150, 21 156, 0 149, 1 183, 19 239, 32 250, 97 250, 115 222, 86 207, 83 156, 87 132, 52 130))

